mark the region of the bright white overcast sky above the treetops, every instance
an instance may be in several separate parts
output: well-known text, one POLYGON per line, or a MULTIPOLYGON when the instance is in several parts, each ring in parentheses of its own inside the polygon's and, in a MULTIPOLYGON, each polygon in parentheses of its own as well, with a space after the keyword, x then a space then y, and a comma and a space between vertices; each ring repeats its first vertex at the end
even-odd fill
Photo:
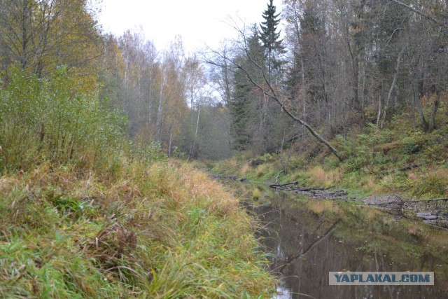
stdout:
MULTIPOLYGON (((146 39, 162 50, 181 35, 186 51, 216 48, 223 39, 237 37, 230 18, 246 25, 262 22, 269 0, 103 0, 99 22, 104 32, 120 36, 140 26, 146 39)), ((274 0, 281 11, 281 0, 274 0)), ((241 23, 240 23, 241 24, 241 23)))

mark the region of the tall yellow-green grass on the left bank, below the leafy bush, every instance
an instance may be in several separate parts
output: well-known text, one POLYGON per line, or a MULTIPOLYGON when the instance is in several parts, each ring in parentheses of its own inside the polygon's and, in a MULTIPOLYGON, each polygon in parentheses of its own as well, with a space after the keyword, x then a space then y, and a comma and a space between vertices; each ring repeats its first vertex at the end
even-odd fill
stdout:
POLYGON ((2 298, 248 298, 272 292, 255 225, 181 162, 113 176, 43 163, 0 180, 2 298))

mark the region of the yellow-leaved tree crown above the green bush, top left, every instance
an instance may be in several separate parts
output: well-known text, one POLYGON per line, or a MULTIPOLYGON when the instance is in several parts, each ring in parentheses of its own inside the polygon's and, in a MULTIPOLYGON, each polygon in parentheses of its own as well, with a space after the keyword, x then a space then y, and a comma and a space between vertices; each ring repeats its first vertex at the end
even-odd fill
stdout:
POLYGON ((65 64, 82 76, 96 74, 101 39, 86 3, 0 0, 3 69, 19 62, 22 69, 45 76, 65 64))

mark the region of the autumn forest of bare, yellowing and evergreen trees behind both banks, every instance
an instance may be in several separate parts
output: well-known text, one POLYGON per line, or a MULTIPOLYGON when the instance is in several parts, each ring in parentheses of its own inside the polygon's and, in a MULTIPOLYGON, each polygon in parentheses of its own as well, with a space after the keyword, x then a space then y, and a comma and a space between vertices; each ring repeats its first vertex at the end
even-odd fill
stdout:
POLYGON ((445 101, 444 1, 284 1, 281 13, 271 1, 265 22, 235 24, 235 41, 189 56, 181 36, 158 50, 144 32, 105 34, 92 5, 2 7, 5 86, 17 71, 40 80, 64 67, 78 93, 125 117, 130 139, 169 156, 279 153, 307 140, 303 128, 346 137, 403 112, 414 132, 428 132, 445 101))

